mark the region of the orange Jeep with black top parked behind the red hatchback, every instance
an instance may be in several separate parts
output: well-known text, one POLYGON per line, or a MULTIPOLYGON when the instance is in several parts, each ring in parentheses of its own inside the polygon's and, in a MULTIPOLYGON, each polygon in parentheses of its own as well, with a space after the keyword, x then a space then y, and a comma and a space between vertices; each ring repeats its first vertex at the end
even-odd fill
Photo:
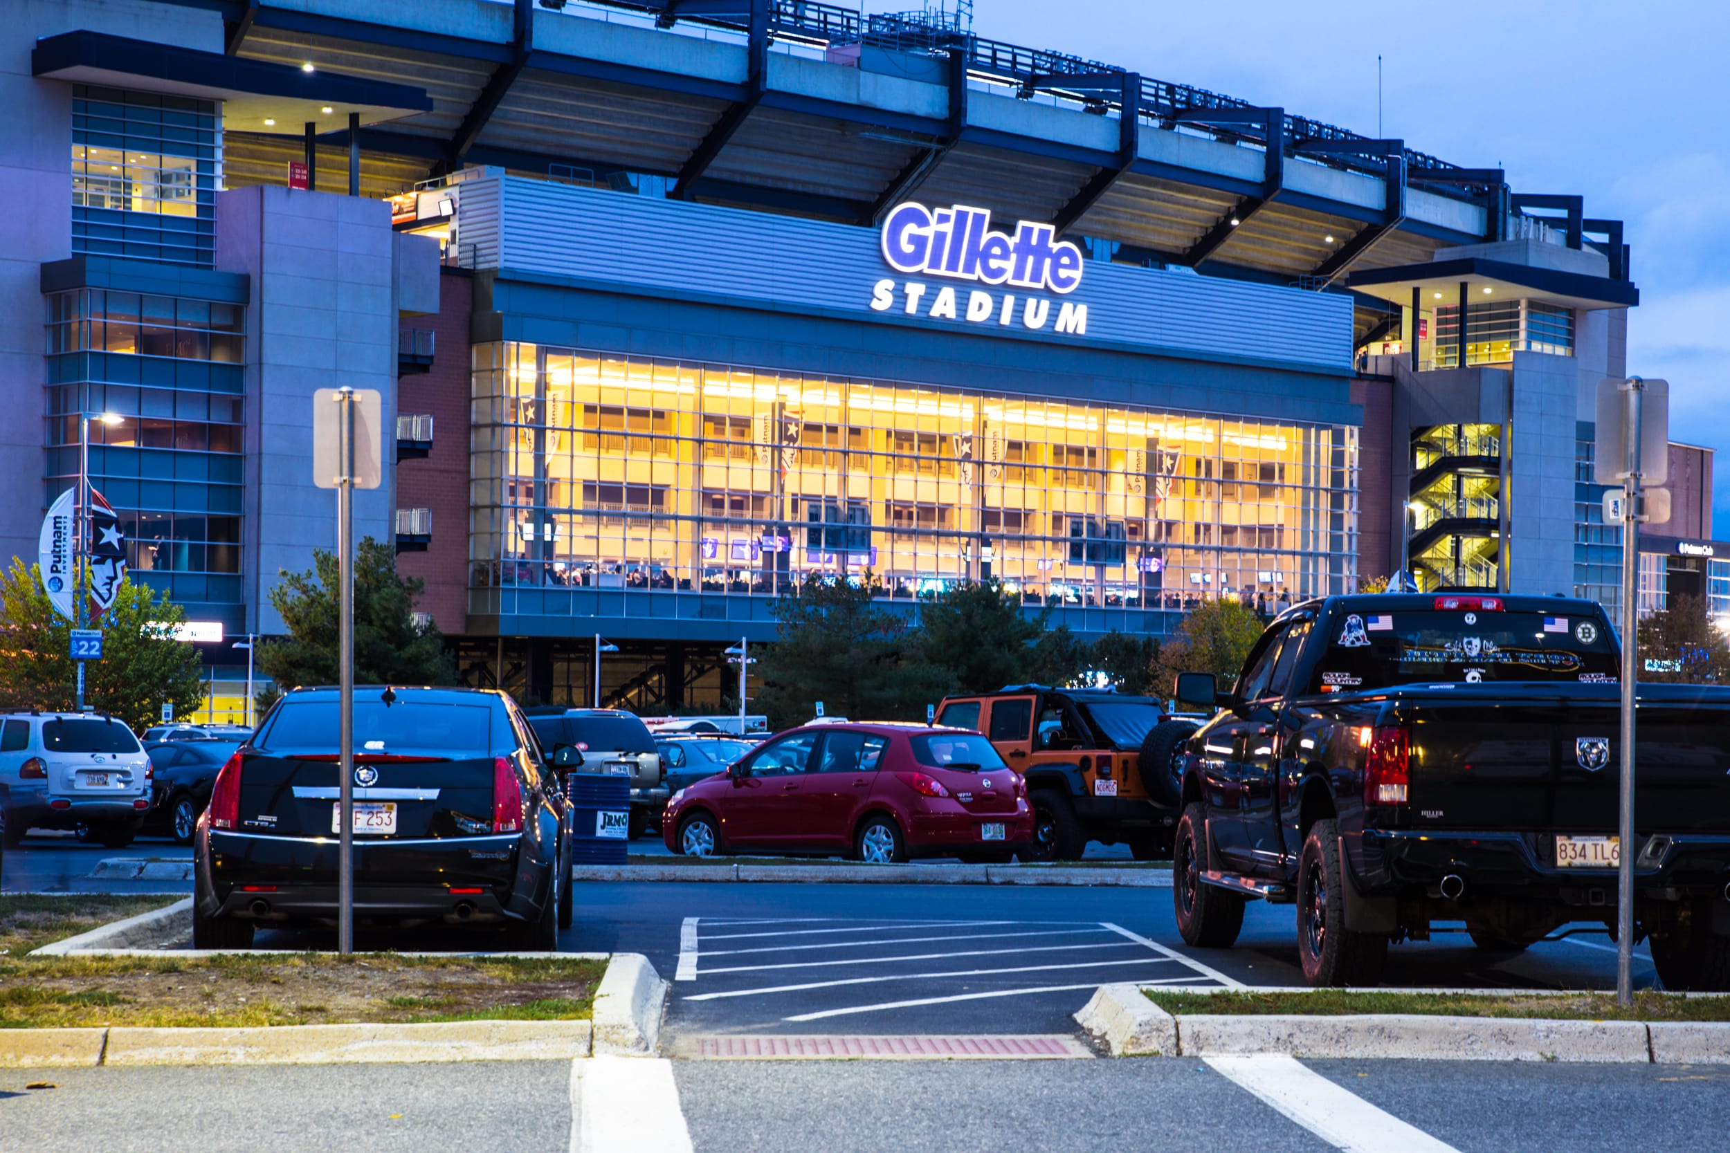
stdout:
POLYGON ((1036 856, 1076 861, 1090 840, 1128 842, 1137 861, 1171 856, 1175 754, 1197 724, 1152 697, 1014 685, 945 697, 938 724, 979 729, 1028 778, 1036 856))

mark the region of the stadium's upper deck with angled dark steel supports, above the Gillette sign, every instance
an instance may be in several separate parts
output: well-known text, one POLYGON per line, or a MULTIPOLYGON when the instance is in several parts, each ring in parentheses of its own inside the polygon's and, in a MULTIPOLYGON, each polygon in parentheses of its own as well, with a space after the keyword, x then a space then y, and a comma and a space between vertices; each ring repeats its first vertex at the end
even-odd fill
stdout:
MULTIPOLYGON (((1306 287, 1503 239, 1538 209, 1626 278, 1621 223, 1586 220, 1578 195, 1514 194, 1500 169, 1401 140, 829 3, 161 2, 220 9, 240 57, 424 88, 431 112, 362 131, 365 195, 497 164, 872 225, 917 190, 1048 220, 1119 261, 1306 287)), ((346 130, 320 128, 339 166, 346 130)), ((303 150, 298 126, 225 130, 230 185, 275 183, 303 150)))

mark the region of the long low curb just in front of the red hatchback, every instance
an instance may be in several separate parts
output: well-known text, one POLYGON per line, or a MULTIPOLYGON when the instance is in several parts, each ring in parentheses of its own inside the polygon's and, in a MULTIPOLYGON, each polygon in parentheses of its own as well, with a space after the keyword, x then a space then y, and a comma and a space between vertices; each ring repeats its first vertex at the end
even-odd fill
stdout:
POLYGON ((1052 868, 1048 864, 583 864, 571 870, 571 880, 1171 889, 1171 870, 1052 868))

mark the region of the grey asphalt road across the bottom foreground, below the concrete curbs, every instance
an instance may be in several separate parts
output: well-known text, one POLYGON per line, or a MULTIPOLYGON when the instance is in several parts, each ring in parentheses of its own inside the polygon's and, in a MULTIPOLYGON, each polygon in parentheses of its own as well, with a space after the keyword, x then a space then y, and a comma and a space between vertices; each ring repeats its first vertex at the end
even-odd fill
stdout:
POLYGON ((0 1070, 0 1153, 178 1150, 192 1134, 344 1153, 1509 1153, 1716 1150, 1730 1131, 1721 1067, 621 1061, 590 1098, 573 1091, 590 1061, 0 1070), (650 1118, 689 1144, 631 1141, 650 1118))

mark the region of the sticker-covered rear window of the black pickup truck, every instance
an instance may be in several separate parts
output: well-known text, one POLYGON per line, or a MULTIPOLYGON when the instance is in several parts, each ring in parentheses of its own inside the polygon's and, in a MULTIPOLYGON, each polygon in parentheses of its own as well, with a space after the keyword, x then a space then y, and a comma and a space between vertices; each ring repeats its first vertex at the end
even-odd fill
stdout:
POLYGON ((1329 626, 1311 693, 1394 685, 1618 679, 1616 643, 1597 617, 1536 612, 1367 612, 1329 626))

